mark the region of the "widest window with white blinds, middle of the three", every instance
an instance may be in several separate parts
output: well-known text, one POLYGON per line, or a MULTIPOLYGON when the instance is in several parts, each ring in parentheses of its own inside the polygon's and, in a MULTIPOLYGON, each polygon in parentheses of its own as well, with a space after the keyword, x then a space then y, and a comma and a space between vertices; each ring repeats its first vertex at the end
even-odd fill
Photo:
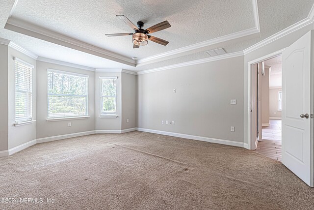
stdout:
POLYGON ((88 75, 48 69, 48 119, 88 115, 88 75))

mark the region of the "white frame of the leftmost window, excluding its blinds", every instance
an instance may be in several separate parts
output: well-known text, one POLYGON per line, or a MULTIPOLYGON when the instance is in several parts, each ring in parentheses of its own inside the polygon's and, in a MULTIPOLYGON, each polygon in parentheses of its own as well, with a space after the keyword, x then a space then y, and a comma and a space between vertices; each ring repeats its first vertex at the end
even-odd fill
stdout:
POLYGON ((32 113, 33 113, 33 69, 34 69, 34 65, 24 61, 24 60, 21 60, 17 57, 13 57, 13 60, 15 61, 14 62, 14 80, 15 80, 15 88, 14 88, 14 91, 15 91, 15 99, 14 99, 14 109, 15 109, 15 123, 14 125, 17 125, 17 124, 28 124, 28 123, 31 123, 33 122, 34 120, 33 117, 32 117, 32 113), (29 68, 30 69, 30 72, 28 72, 28 75, 30 78, 28 78, 28 90, 17 90, 17 86, 16 86, 16 75, 19 71, 19 67, 17 65, 22 64, 24 66, 26 66, 26 68, 29 68), (24 117, 24 118, 18 118, 17 119, 17 115, 16 115, 16 93, 17 92, 23 92, 23 93, 26 93, 26 96, 27 96, 27 105, 26 105, 26 110, 27 110, 27 116, 24 117))

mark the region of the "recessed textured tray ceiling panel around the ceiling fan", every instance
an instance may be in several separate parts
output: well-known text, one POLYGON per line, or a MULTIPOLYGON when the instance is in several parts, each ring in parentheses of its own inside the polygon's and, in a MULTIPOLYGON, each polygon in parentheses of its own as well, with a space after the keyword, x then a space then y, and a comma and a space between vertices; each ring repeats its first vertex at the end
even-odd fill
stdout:
POLYGON ((255 27, 252 0, 19 0, 12 18, 139 59, 255 27), (170 43, 133 49, 131 36, 106 37, 133 32, 117 14, 144 28, 167 20, 172 27, 154 36, 170 43))

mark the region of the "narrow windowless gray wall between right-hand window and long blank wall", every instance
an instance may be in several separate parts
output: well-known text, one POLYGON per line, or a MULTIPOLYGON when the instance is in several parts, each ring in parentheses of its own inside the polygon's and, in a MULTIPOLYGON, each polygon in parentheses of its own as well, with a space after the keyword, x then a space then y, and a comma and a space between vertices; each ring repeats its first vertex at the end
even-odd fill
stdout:
POLYGON ((122 72, 121 78, 122 129, 134 128, 136 127, 136 76, 122 72))

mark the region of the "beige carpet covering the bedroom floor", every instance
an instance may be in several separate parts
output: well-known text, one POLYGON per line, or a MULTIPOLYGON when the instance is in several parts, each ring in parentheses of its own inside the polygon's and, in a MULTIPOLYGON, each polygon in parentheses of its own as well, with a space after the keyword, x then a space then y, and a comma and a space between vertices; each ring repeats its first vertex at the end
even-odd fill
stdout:
POLYGON ((27 210, 314 209, 314 189, 279 161, 138 131, 43 143, 0 158, 0 198, 43 199, 0 203, 27 210))

